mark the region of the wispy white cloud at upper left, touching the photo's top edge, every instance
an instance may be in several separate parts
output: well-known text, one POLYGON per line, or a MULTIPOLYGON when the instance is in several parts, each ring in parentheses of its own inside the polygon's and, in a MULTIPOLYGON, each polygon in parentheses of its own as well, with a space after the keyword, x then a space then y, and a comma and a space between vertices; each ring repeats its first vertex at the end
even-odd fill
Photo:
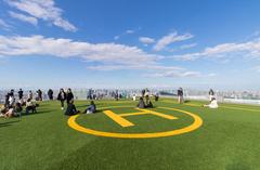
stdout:
POLYGON ((5 0, 8 4, 29 14, 31 17, 40 18, 65 30, 76 31, 77 28, 62 17, 62 9, 55 6, 53 0, 5 0))

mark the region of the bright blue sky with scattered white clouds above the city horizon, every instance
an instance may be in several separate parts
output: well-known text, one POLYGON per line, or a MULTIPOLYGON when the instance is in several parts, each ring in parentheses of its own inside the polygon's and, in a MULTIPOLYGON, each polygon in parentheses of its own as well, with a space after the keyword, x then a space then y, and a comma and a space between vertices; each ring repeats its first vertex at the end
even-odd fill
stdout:
POLYGON ((0 84, 258 90, 260 1, 0 0, 0 84))

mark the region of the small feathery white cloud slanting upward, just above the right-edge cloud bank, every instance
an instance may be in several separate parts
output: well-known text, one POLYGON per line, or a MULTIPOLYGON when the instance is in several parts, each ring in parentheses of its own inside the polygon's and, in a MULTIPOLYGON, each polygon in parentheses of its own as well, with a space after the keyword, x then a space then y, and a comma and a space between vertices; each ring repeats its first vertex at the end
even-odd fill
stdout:
POLYGON ((158 40, 158 42, 154 45, 154 50, 160 51, 160 50, 164 50, 170 43, 178 42, 178 41, 184 41, 184 40, 191 39, 194 36, 191 34, 178 35, 178 32, 174 31, 174 32, 171 32, 171 34, 160 38, 158 40))

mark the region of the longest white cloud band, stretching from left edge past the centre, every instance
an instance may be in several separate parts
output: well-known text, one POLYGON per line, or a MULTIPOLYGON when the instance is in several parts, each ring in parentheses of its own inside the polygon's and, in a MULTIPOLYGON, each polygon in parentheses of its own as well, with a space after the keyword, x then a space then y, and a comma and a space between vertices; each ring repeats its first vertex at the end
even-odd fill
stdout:
POLYGON ((72 39, 44 38, 43 36, 0 36, 0 55, 52 55, 81 57, 87 61, 134 65, 154 64, 162 56, 148 54, 136 47, 116 43, 89 43, 72 39))

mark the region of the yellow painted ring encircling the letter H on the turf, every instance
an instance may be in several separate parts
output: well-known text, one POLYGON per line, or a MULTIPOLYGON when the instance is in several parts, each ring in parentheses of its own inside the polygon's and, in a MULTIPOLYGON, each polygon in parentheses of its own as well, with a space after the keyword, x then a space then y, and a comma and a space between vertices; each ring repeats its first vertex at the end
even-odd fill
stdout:
MULTIPOLYGON (((114 107, 106 107, 106 108, 116 108, 116 107, 128 107, 128 106, 114 106, 114 107)), ((116 133, 116 132, 103 132, 99 130, 93 130, 93 129, 84 128, 76 122, 76 119, 79 117, 79 115, 72 116, 68 119, 67 123, 70 128, 82 133, 88 133, 88 134, 93 134, 99 136, 107 136, 107 138, 120 138, 120 139, 148 139, 148 138, 162 138, 162 136, 178 135, 178 134, 183 134, 183 133, 194 131, 203 125, 203 119, 193 113, 182 110, 182 109, 177 109, 177 108, 169 108, 169 107, 158 107, 158 108, 176 110, 176 112, 186 114, 191 116, 194 119, 194 121, 192 125, 181 129, 165 131, 165 132, 154 132, 154 133, 153 132, 152 133, 116 133)))

